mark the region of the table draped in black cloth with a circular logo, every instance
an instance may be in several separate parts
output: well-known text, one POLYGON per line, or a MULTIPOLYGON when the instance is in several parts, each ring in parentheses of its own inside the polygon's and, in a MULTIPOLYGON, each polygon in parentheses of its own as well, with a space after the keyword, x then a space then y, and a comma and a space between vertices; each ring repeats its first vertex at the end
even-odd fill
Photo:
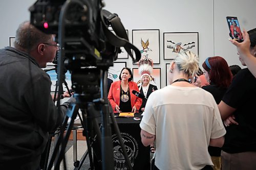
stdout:
MULTIPOLYGON (((134 116, 142 118, 141 113, 135 113, 134 116)), ((140 120, 134 120, 133 117, 118 117, 116 120, 133 169, 150 169, 150 147, 144 147, 141 142, 140 120)), ((117 134, 114 132, 113 126, 111 128, 115 169, 124 169, 126 167, 125 159, 117 134)))

